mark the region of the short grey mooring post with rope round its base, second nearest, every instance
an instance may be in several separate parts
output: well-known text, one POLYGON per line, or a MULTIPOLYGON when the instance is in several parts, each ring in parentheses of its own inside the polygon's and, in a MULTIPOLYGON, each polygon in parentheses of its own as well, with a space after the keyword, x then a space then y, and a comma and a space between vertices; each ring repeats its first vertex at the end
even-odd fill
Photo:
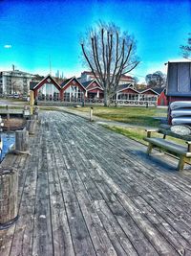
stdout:
POLYGON ((26 129, 15 131, 15 151, 21 153, 29 152, 29 131, 26 129))

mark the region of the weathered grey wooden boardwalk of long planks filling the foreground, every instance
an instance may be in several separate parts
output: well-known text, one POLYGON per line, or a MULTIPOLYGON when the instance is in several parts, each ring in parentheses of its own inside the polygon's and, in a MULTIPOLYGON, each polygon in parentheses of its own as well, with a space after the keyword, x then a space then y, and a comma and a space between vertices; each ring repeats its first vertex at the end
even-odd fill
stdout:
POLYGON ((43 112, 1 256, 191 255, 191 171, 95 123, 43 112), (164 164, 162 164, 164 163, 164 164))

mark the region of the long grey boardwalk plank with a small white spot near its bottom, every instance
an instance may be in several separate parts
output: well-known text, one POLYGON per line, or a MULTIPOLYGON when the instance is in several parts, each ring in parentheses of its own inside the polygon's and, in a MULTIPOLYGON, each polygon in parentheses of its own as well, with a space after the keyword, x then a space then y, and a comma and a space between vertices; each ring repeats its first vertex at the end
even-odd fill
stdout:
POLYGON ((46 126, 42 126, 41 153, 37 172, 35 194, 35 215, 33 226, 32 253, 35 255, 53 255, 53 233, 48 187, 48 165, 46 148, 46 126))

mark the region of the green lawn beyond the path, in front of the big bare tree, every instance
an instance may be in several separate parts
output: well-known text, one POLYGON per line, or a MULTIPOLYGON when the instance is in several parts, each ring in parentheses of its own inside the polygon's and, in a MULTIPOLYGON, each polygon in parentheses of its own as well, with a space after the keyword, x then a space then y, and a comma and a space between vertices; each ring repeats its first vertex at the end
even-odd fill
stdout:
MULTIPOLYGON (((76 108, 75 108, 76 110, 76 108)), ((90 107, 77 108, 81 112, 89 112, 90 107)), ((94 107, 94 115, 107 120, 118 121, 126 124, 159 127, 159 120, 155 117, 166 117, 166 108, 157 107, 94 107)))

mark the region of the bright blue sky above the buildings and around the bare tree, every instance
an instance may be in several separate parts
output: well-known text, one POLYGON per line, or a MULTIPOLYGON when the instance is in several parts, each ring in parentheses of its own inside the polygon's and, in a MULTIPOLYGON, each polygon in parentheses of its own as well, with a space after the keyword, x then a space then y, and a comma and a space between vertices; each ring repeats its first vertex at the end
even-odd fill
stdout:
POLYGON ((57 70, 79 76, 79 37, 101 19, 115 22, 138 41, 141 62, 132 73, 165 72, 164 62, 180 59, 180 44, 191 32, 190 0, 0 0, 0 70, 47 75, 57 70))

